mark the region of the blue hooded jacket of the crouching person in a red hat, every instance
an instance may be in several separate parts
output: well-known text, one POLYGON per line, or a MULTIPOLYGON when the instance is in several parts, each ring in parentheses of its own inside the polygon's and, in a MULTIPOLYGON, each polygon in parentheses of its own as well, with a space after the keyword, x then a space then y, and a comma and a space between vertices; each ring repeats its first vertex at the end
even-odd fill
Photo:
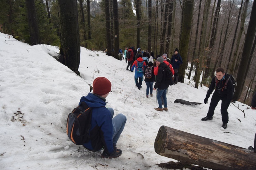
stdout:
MULTIPOLYGON (((98 95, 88 93, 80 102, 85 102, 93 108, 91 117, 90 137, 91 140, 83 146, 90 151, 99 151, 103 148, 108 153, 114 152, 113 147, 113 125, 109 109, 105 107, 106 102, 98 95)), ((79 103, 80 104, 80 103, 79 103)))

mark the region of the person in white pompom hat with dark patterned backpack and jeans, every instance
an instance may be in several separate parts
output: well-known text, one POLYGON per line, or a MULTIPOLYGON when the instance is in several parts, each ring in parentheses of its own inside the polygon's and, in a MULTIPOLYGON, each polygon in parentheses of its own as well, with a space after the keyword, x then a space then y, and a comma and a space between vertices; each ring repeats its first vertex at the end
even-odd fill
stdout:
POLYGON ((148 64, 144 69, 144 77, 145 77, 145 83, 147 86, 146 89, 146 97, 148 98, 149 90, 150 90, 150 96, 153 96, 153 84, 155 82, 155 75, 154 75, 154 61, 153 57, 151 56, 148 60, 148 64))

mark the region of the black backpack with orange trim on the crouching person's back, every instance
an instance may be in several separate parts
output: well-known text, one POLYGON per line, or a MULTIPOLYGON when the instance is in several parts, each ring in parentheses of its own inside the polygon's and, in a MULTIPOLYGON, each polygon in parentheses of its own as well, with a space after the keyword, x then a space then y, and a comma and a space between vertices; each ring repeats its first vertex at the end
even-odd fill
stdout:
POLYGON ((67 135, 76 145, 82 145, 90 140, 92 110, 85 102, 81 102, 68 116, 67 135))

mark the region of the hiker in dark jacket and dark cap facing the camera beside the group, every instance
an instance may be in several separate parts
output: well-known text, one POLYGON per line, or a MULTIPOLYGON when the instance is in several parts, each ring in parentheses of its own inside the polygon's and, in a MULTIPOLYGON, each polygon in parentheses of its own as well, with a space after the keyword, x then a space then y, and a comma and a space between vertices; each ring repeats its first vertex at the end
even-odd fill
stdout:
POLYGON ((174 54, 172 55, 170 63, 174 69, 174 84, 177 84, 179 79, 179 68, 180 65, 183 63, 179 50, 176 48, 174 50, 174 54))

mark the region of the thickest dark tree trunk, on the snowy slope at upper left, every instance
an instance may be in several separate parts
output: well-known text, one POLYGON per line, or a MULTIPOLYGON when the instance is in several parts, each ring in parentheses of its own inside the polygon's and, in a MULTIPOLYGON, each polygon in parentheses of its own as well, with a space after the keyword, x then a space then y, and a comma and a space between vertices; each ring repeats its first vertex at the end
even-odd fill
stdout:
POLYGON ((65 58, 65 65, 77 75, 80 64, 80 37, 76 0, 58 0, 60 54, 65 58))

